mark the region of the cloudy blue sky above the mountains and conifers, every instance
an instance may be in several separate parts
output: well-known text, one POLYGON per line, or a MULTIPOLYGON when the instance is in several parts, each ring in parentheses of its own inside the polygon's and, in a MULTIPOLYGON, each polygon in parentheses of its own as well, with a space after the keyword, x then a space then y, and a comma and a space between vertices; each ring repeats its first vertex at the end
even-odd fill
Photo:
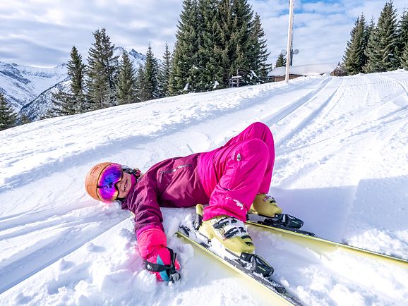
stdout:
MULTIPOLYGON (((337 63, 342 59, 354 20, 361 13, 377 20, 386 0, 295 0, 294 65, 337 63)), ((270 62, 287 44, 288 0, 248 0, 260 15, 270 62)), ((395 0, 398 13, 406 0, 395 0)), ((14 0, 0 1, 0 61, 53 67, 69 60, 76 45, 83 59, 92 32, 105 27, 116 46, 158 58, 164 43, 172 49, 181 0, 14 0)))

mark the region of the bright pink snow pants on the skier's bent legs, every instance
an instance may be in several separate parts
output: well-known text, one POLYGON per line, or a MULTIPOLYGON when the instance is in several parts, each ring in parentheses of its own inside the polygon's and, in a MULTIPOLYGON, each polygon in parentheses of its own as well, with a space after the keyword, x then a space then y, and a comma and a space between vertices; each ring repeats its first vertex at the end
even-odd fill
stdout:
POLYGON ((209 205, 203 220, 246 213, 258 193, 268 193, 275 161, 275 145, 268 126, 256 122, 224 146, 200 155, 200 180, 209 205))

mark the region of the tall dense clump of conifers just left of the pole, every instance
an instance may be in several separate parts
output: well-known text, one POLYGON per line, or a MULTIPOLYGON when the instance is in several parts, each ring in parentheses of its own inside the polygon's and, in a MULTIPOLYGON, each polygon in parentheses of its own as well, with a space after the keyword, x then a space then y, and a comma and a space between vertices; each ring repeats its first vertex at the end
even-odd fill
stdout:
POLYGON ((270 69, 258 15, 247 0, 184 0, 174 47, 170 91, 227 87, 237 73, 248 82, 270 69), (251 73, 253 71, 254 73, 251 73))

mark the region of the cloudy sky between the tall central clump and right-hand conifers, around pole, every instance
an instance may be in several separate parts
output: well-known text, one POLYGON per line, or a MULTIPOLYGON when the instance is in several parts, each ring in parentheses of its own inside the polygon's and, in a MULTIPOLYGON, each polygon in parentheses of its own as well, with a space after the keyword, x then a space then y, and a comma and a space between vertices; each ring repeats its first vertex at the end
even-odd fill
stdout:
MULTIPOLYGON (((342 60, 350 31, 357 16, 364 13, 367 20, 377 20, 386 0, 295 1, 294 65, 306 63, 337 63, 342 60)), ((270 61, 287 45, 289 5, 287 0, 248 1, 260 15, 268 39, 270 61)), ((402 13, 406 0, 394 0, 394 7, 402 13)))

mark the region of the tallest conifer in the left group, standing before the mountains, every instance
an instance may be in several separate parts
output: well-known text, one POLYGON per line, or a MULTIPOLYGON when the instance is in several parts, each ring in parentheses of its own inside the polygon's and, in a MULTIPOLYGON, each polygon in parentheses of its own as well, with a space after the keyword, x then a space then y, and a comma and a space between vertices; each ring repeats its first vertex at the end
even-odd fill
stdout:
POLYGON ((115 79, 118 56, 114 56, 114 44, 110 42, 106 30, 92 33, 95 42, 88 54, 87 89, 88 100, 92 109, 114 106, 115 79))

